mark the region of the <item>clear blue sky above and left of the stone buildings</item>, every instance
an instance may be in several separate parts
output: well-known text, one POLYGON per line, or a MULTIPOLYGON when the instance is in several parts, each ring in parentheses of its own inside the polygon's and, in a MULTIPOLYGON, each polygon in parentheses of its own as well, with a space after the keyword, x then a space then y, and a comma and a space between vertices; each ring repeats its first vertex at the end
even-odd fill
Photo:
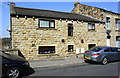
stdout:
MULTIPOLYGON (((18 7, 35 8, 35 9, 45 9, 54 10, 62 12, 71 12, 74 8, 75 2, 15 2, 18 7)), ((113 12, 118 12, 118 2, 80 2, 81 4, 99 7, 113 12)), ((9 37, 9 32, 6 30, 10 27, 10 9, 9 2, 1 2, 0 5, 0 37, 9 37)))

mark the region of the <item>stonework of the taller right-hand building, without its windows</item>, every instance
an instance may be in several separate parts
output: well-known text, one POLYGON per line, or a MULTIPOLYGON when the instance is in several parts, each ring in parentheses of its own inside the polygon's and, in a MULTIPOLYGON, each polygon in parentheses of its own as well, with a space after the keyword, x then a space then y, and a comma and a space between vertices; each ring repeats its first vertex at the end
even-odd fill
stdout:
MULTIPOLYGON (((83 5, 83 4, 80 4, 79 2, 76 2, 74 4, 74 9, 72 10, 72 13, 87 15, 87 16, 90 16, 93 18, 100 19, 103 22, 106 22, 106 17, 110 17, 110 30, 111 30, 110 45, 113 47, 116 46, 116 36, 120 36, 120 31, 116 31, 115 19, 116 18, 120 19, 120 15, 114 14, 109 11, 105 11, 101 8, 83 5)), ((107 29, 105 30, 105 32, 106 31, 107 31, 107 29)), ((106 41, 105 41, 105 43, 106 43, 106 41)))

